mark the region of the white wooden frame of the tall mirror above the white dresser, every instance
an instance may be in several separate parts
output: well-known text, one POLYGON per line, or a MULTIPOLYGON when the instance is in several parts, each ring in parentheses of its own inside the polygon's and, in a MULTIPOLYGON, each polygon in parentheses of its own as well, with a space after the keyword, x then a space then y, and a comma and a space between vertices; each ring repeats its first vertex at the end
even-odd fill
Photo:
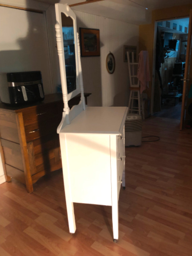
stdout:
POLYGON ((63 101, 65 103, 67 99, 70 100, 81 92, 81 88, 80 88, 80 84, 79 84, 79 61, 80 61, 79 58, 80 57, 79 57, 79 52, 78 52, 76 15, 70 9, 68 4, 55 4, 55 13, 56 13, 56 20, 57 20, 55 29, 56 29, 56 39, 57 39, 57 50, 58 50, 59 62, 60 62, 61 88, 62 88, 62 93, 63 93, 63 101), (70 17, 73 20, 77 89, 70 93, 67 92, 67 78, 66 78, 66 70, 65 70, 65 54, 64 54, 63 36, 62 36, 63 33, 62 33, 61 13, 64 13, 67 17, 70 17), (58 27, 58 25, 59 25, 59 27, 58 27), (59 31, 59 29, 60 29, 60 31, 59 31), (66 94, 67 94, 67 99, 65 98, 66 94))

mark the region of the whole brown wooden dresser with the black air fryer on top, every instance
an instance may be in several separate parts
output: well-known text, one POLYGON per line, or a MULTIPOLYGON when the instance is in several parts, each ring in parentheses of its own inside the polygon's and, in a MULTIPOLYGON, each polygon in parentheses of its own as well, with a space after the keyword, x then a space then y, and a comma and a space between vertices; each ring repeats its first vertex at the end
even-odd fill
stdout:
MULTIPOLYGON (((85 99, 91 93, 84 93, 85 99)), ((80 95, 69 101, 78 104, 80 95)), ((0 104, 0 152, 6 180, 26 184, 28 193, 46 173, 62 167, 57 127, 63 112, 62 95, 45 95, 42 102, 20 107, 0 104)))

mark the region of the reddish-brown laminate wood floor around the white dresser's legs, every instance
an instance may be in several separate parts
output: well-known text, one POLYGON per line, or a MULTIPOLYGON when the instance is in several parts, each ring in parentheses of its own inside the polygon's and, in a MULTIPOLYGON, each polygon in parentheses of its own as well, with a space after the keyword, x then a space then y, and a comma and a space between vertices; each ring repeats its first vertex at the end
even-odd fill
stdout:
POLYGON ((151 117, 143 136, 126 148, 126 189, 119 196, 119 240, 111 207, 75 204, 76 233, 68 232, 61 170, 28 194, 16 180, 0 185, 1 256, 191 256, 192 129, 151 117), (155 138, 149 138, 154 140, 155 138))

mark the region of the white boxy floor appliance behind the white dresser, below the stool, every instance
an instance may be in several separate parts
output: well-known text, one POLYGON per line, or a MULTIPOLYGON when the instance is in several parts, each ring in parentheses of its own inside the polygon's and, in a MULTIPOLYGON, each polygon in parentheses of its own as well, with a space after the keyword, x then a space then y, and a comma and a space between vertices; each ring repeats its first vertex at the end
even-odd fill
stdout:
POLYGON ((142 118, 140 115, 128 114, 125 121, 125 147, 140 146, 142 118))

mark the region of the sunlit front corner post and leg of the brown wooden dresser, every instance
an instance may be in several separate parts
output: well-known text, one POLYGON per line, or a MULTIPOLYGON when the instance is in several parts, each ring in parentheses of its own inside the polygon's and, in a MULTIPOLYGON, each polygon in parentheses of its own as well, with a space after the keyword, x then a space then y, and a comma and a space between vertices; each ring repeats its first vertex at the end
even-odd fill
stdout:
POLYGON ((22 156, 22 162, 23 162, 23 168, 24 168, 24 174, 25 174, 26 188, 27 188, 28 193, 32 193, 33 192, 33 184, 32 184, 31 173, 30 173, 28 147, 27 147, 27 142, 26 142, 26 138, 25 138, 23 115, 21 112, 16 115, 16 122, 17 122, 17 126, 18 126, 18 133, 19 133, 21 156, 22 156))

